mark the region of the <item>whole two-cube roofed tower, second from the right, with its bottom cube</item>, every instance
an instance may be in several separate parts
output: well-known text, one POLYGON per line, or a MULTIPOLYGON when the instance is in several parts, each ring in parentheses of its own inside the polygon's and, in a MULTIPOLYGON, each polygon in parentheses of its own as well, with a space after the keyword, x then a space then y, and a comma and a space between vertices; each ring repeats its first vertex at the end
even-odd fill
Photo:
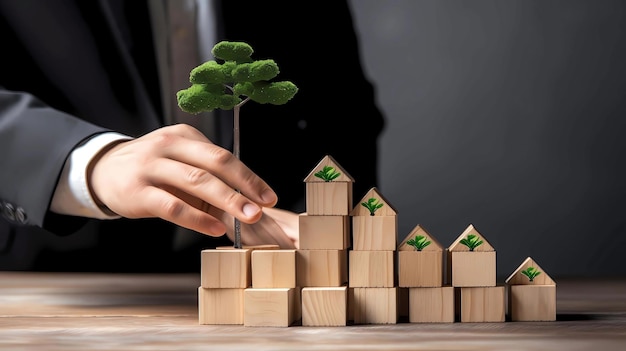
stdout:
POLYGON ((448 252, 448 275, 457 289, 461 322, 504 322, 506 292, 496 285, 494 248, 470 224, 448 252))

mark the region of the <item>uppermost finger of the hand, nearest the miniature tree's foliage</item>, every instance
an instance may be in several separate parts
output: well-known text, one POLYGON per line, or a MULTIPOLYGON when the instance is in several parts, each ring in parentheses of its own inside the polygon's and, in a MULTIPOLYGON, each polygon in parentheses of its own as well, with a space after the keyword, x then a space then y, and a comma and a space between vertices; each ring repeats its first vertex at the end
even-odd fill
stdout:
POLYGON ((276 205, 278 197, 271 187, 230 151, 210 142, 169 135, 163 142, 164 157, 208 171, 233 189, 261 206, 276 205))

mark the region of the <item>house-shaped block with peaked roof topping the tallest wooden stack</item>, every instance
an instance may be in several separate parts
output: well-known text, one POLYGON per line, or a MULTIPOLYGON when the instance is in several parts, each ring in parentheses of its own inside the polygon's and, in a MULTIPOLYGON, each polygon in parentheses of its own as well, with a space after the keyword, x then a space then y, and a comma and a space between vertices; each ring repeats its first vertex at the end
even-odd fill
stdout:
POLYGON ((325 156, 304 179, 306 183, 306 213, 309 216, 347 216, 352 210, 354 179, 332 156, 325 156), (317 175, 336 175, 325 180, 317 175))

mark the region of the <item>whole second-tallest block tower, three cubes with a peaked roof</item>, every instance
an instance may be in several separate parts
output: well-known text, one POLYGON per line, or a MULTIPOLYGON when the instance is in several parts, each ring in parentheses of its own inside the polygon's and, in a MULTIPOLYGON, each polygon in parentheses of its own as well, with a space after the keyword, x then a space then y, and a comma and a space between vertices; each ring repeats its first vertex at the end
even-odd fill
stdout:
POLYGON ((395 324, 397 212, 374 187, 350 215, 353 244, 348 256, 348 285, 354 323, 395 324))

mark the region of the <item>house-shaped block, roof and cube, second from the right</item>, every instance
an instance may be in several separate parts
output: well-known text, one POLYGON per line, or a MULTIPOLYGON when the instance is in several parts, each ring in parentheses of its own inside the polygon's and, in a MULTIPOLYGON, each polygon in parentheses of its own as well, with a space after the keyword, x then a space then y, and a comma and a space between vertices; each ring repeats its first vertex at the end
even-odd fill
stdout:
POLYGON ((472 224, 448 247, 448 275, 454 287, 496 286, 496 251, 472 224), (466 240, 482 243, 470 248, 466 240))

